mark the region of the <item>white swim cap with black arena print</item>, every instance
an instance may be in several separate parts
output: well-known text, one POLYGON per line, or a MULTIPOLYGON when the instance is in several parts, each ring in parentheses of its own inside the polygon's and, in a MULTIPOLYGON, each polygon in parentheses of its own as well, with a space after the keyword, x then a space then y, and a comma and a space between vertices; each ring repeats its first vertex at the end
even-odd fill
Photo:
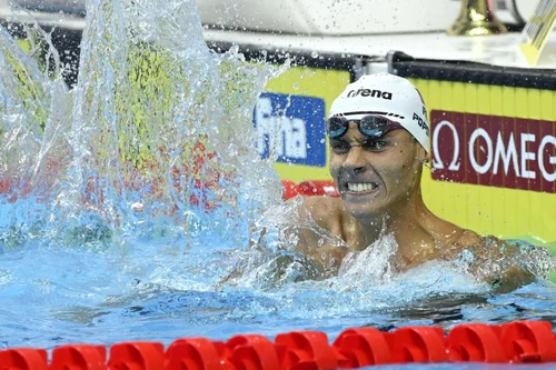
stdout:
POLYGON ((329 118, 344 116, 358 120, 365 116, 381 116, 401 124, 430 151, 427 108, 417 88, 405 78, 389 74, 366 74, 332 102, 329 118))

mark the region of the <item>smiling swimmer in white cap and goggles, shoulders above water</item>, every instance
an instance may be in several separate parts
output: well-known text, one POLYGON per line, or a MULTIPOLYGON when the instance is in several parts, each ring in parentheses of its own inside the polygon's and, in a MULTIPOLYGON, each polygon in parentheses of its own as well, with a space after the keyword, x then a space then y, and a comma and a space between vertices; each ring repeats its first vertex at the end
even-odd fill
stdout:
POLYGON ((411 82, 377 73, 348 84, 331 106, 326 132, 329 170, 340 198, 294 200, 301 217, 311 218, 347 246, 318 246, 315 232, 299 231, 298 250, 324 270, 336 273, 342 261, 389 234, 398 246, 390 261, 398 272, 429 260, 453 260, 468 250, 474 256, 469 272, 498 291, 535 280, 518 263, 502 262, 518 260, 512 258, 517 247, 443 220, 425 204, 420 182, 429 162, 430 127, 425 102, 411 82), (487 268, 490 262, 499 268, 487 268))

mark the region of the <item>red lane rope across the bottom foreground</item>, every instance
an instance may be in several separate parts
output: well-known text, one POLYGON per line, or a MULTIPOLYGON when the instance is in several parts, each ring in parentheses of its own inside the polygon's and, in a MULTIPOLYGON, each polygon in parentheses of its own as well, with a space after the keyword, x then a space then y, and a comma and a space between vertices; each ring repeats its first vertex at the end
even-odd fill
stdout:
POLYGON ((325 332, 292 331, 274 341, 259 334, 226 342, 181 338, 166 349, 150 341, 69 344, 54 348, 50 360, 44 349, 0 351, 0 369, 10 370, 332 370, 414 362, 556 362, 556 336, 549 321, 514 321, 459 324, 447 334, 426 326, 353 328, 331 344, 325 332))

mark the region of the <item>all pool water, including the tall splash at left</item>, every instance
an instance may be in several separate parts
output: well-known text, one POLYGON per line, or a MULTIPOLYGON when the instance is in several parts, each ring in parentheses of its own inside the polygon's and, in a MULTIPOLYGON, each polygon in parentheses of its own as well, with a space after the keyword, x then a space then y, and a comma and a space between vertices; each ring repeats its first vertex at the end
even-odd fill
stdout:
POLYGON ((0 36, 12 71, 0 81, 2 348, 556 326, 553 283, 495 294, 460 261, 395 274, 388 236, 340 276, 310 279, 310 261, 278 241, 295 218, 254 144, 252 107, 281 69, 210 52, 195 1, 91 1, 72 91, 0 36), (270 230, 264 248, 249 247, 254 226, 270 230))

